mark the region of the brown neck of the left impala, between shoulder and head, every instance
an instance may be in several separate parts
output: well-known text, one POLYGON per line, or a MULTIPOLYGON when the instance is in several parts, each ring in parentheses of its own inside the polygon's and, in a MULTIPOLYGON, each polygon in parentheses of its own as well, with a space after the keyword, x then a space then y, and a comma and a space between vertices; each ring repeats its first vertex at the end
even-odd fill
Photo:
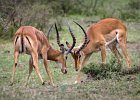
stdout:
POLYGON ((62 54, 61 51, 55 50, 52 47, 49 48, 48 51, 48 60, 58 61, 58 57, 62 54))

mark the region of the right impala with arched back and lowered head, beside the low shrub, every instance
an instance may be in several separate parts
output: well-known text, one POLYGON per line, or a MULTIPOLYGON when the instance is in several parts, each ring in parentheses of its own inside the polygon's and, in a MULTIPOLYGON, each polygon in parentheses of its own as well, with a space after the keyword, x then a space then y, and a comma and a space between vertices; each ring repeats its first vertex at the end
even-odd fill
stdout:
MULTIPOLYGON (((131 68, 131 62, 126 47, 127 29, 120 20, 113 18, 100 20, 96 24, 90 25, 87 32, 85 32, 78 23, 76 24, 83 30, 85 35, 83 44, 77 48, 73 48, 71 51, 72 57, 75 61, 75 69, 78 71, 76 82, 80 82, 80 70, 93 52, 101 51, 102 63, 106 63, 106 46, 111 49, 118 61, 120 61, 122 56, 116 46, 119 44, 128 68, 131 68)), ((66 44, 69 48, 71 47, 68 42, 66 42, 66 44)))

